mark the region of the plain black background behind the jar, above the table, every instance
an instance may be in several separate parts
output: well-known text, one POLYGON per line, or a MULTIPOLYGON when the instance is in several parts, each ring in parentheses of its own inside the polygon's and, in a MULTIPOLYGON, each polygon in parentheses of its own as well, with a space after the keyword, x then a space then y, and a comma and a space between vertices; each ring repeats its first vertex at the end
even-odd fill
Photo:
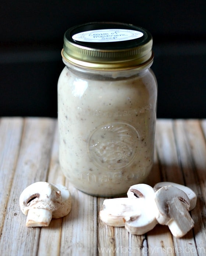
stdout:
POLYGON ((3 1, 0 116, 57 117, 64 32, 118 21, 153 35, 159 118, 206 117, 206 1, 3 1))

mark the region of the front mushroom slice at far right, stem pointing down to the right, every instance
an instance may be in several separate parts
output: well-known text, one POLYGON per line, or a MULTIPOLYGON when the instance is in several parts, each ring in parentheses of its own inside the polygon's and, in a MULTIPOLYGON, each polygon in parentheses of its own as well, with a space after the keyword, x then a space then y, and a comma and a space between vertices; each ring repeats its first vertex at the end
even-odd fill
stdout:
POLYGON ((189 215, 190 202, 184 191, 174 186, 161 187, 155 193, 156 219, 167 225, 175 237, 184 236, 194 226, 189 215))

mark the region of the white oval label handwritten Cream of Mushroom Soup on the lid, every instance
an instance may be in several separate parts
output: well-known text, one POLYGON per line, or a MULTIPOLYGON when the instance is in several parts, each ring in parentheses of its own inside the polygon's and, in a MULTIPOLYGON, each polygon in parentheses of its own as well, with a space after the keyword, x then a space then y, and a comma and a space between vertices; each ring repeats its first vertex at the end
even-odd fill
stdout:
POLYGON ((103 29, 84 31, 72 36, 72 39, 80 42, 118 42, 127 41, 143 36, 143 33, 136 30, 125 29, 103 29))

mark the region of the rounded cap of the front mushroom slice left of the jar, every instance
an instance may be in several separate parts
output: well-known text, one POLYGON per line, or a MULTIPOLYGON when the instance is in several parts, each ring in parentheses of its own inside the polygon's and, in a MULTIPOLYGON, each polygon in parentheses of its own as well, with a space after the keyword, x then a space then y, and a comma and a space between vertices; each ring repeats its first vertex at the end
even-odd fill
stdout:
POLYGON ((31 208, 47 208, 54 211, 60 207, 61 191, 46 181, 38 181, 26 187, 20 197, 21 211, 27 215, 31 208))

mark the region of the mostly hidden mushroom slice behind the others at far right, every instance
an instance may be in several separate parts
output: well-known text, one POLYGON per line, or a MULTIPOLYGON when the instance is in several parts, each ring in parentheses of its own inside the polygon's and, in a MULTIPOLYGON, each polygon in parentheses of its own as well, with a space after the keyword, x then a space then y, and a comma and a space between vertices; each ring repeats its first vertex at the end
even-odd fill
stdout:
POLYGON ((189 201, 190 201, 189 211, 191 211, 192 209, 195 208, 197 196, 196 196, 195 192, 189 187, 186 187, 181 184, 174 183, 174 182, 163 181, 163 182, 159 182, 154 185, 154 191, 157 191, 161 187, 170 186, 170 185, 183 190, 187 194, 189 201))

